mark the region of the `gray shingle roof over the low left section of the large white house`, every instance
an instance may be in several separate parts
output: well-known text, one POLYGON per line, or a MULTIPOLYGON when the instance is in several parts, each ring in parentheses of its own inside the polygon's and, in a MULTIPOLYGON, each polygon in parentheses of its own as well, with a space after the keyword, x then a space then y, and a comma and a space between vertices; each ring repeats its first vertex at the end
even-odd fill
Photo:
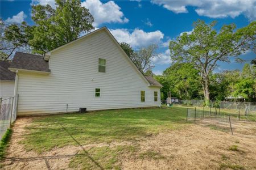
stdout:
POLYGON ((44 61, 43 56, 22 52, 15 53, 13 62, 11 62, 10 67, 15 69, 50 72, 48 61, 44 61))

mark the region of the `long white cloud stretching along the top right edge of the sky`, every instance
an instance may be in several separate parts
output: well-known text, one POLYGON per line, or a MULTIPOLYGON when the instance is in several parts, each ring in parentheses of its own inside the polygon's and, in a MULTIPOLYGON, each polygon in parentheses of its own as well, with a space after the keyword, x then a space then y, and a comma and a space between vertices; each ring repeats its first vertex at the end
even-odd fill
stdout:
POLYGON ((251 0, 219 0, 219 1, 157 1, 151 3, 163 6, 175 13, 187 13, 187 6, 196 7, 195 11, 201 16, 210 18, 225 18, 230 16, 235 18, 244 14, 250 20, 256 19, 256 1, 251 0))

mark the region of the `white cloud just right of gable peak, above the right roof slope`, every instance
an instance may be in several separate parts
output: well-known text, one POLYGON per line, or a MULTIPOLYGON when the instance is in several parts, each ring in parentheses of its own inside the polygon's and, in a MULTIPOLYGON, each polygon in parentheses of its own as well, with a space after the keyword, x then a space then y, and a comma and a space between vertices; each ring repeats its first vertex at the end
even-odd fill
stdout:
POLYGON ((110 29, 118 42, 126 42, 133 48, 147 46, 151 44, 159 44, 164 37, 161 31, 144 32, 142 29, 134 29, 129 32, 128 29, 110 29))

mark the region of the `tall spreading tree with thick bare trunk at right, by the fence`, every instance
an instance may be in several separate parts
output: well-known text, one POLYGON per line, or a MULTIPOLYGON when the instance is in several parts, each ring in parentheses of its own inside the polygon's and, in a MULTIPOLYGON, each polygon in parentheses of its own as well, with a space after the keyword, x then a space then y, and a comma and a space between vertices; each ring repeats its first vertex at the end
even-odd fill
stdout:
POLYGON ((236 25, 224 25, 219 32, 214 30, 216 22, 206 24, 202 20, 194 23, 191 34, 183 33, 170 41, 171 60, 190 62, 201 76, 201 86, 205 101, 209 101, 209 75, 217 62, 230 62, 230 57, 241 61, 240 54, 255 46, 256 22, 247 27, 236 29, 236 25))

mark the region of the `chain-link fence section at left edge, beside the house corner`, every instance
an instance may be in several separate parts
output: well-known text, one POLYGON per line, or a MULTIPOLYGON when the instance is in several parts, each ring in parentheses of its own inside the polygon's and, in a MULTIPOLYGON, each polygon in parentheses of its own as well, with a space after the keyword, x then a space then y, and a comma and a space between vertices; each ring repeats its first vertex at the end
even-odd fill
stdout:
POLYGON ((18 95, 6 99, 0 98, 0 139, 16 120, 18 98, 18 95))

